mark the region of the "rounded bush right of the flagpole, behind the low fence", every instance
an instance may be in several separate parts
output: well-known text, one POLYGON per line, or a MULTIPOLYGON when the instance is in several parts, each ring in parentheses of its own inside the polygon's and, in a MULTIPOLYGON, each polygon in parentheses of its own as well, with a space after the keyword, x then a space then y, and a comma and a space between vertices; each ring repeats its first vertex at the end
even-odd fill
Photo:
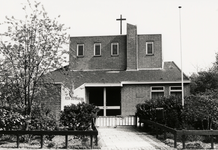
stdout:
POLYGON ((182 113, 184 128, 217 129, 218 103, 207 95, 192 95, 185 99, 182 113))

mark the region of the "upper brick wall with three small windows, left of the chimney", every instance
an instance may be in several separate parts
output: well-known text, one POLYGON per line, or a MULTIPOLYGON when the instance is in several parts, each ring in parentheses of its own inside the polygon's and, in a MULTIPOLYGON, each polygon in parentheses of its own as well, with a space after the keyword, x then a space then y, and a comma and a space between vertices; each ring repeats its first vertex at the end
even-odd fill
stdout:
POLYGON ((70 38, 70 66, 73 70, 125 70, 126 36, 70 38), (101 43, 101 56, 94 56, 94 43, 101 43), (119 43, 119 56, 111 56, 111 43, 119 43), (77 58, 77 44, 84 44, 84 57, 77 58))

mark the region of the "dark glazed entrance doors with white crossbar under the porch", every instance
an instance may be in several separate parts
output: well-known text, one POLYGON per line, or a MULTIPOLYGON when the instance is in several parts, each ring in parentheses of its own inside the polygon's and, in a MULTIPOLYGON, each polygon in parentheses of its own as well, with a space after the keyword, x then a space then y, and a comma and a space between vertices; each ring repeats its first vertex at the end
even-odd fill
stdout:
POLYGON ((87 88, 89 103, 100 108, 99 116, 121 115, 121 89, 119 87, 87 88))

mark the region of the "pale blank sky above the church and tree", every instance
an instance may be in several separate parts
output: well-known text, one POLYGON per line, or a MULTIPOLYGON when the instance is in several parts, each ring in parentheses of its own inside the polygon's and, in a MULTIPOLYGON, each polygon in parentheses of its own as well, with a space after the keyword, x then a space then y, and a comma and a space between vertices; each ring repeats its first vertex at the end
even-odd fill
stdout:
MULTIPOLYGON (((174 61, 180 68, 182 62, 187 75, 207 70, 216 60, 218 0, 37 1, 51 18, 60 15, 59 22, 70 27, 70 36, 119 35, 120 22, 116 19, 120 15, 126 18, 123 35, 127 23, 136 25, 138 34, 162 34, 163 60, 174 61)), ((5 21, 5 16, 24 17, 25 3, 0 0, 0 22, 5 21)), ((0 26, 0 32, 3 30, 0 26)))

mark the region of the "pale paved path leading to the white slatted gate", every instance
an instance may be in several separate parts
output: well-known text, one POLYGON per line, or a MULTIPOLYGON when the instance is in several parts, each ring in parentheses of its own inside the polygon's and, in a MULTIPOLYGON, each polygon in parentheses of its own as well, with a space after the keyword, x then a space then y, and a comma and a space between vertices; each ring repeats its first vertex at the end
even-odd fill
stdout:
POLYGON ((132 126, 98 127, 102 150, 172 150, 146 132, 132 126))

